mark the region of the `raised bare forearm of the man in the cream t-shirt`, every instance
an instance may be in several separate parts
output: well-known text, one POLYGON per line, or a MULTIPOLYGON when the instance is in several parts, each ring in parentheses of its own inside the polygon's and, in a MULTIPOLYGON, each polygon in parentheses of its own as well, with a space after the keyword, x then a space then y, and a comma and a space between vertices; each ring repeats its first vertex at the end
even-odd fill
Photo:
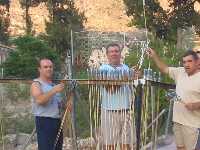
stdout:
POLYGON ((154 50, 152 50, 151 48, 147 50, 147 55, 149 57, 151 57, 153 59, 153 61, 155 62, 156 66, 159 68, 159 70, 162 73, 168 74, 168 66, 167 64, 165 64, 160 57, 156 54, 156 52, 154 50))

